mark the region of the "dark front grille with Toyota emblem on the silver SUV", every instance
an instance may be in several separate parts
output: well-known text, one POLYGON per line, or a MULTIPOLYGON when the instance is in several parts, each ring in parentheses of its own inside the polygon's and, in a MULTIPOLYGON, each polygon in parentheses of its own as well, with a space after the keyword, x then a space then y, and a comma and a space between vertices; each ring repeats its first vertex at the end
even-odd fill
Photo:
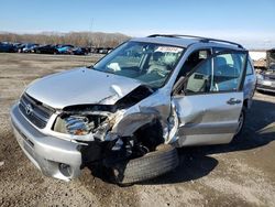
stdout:
POLYGON ((28 120, 40 129, 46 127, 50 117, 54 113, 54 109, 43 106, 42 102, 26 94, 21 97, 19 109, 28 120))

